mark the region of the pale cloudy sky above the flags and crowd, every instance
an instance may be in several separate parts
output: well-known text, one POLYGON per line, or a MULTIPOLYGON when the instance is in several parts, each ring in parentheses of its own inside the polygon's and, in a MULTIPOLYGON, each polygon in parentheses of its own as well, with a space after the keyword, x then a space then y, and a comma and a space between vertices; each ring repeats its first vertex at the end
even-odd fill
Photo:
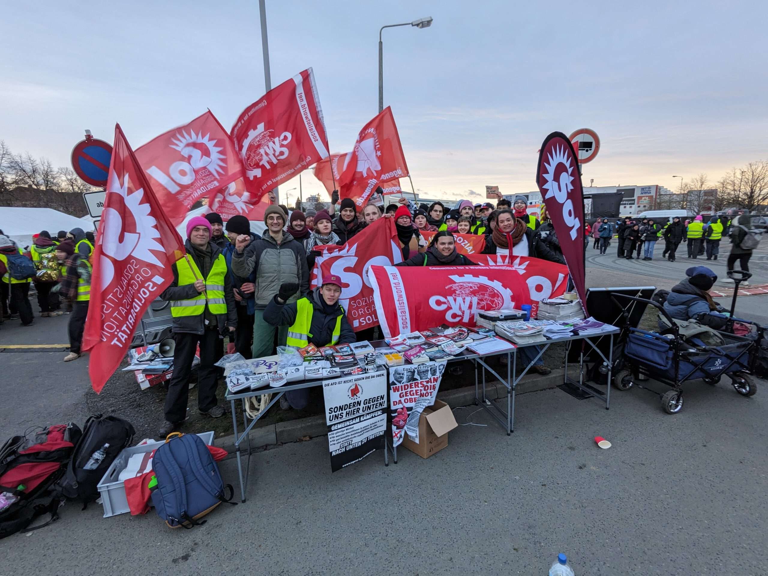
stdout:
MULTIPOLYGON (((6 2, 0 138, 68 165, 84 128, 136 148, 264 92, 258 2, 6 2)), ((584 184, 660 184, 768 157, 766 2, 272 2, 273 86, 314 68, 329 147, 384 101, 425 197, 535 189, 551 131, 601 137, 584 184)), ((281 190, 297 186, 297 179, 281 190)), ((407 187, 407 180, 402 183, 407 187)), ((304 193, 324 189, 311 170, 304 193)), ((296 191, 290 192, 290 200, 296 191)))

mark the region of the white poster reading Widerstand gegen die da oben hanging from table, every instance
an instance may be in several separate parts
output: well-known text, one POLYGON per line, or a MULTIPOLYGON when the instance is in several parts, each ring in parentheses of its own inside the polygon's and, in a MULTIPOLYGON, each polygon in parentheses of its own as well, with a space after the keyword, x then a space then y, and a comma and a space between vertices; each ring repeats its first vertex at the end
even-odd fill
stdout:
POLYGON ((422 362, 389 369, 389 409, 392 411, 392 446, 408 434, 419 442, 419 418, 437 398, 446 362, 422 362))

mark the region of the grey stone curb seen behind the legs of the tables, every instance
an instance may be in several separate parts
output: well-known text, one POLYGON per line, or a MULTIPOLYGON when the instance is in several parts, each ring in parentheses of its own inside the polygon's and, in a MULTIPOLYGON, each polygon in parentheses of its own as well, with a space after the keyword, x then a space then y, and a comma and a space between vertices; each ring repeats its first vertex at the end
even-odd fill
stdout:
MULTIPOLYGON (((515 394, 525 394, 527 392, 539 392, 559 386, 563 382, 564 369, 554 369, 547 376, 525 376, 515 389, 515 394)), ((482 394, 482 388, 480 389, 482 394)), ((507 396, 506 387, 495 380, 485 382, 485 398, 488 400, 498 400, 507 396)), ((439 400, 448 404, 452 409, 460 406, 469 406, 475 403, 475 386, 465 386, 447 392, 439 392, 439 400)), ((300 418, 289 420, 288 422, 277 422, 261 427, 254 427, 249 432, 250 445, 252 449, 266 448, 267 446, 286 444, 286 442, 296 442, 305 439, 307 436, 315 438, 316 436, 325 436, 328 434, 326 420, 323 416, 311 416, 310 418, 300 418)), ((225 459, 235 457, 235 437, 234 435, 221 436, 214 440, 214 445, 226 449, 230 454, 225 459)), ((246 441, 247 442, 247 441, 246 441)), ((244 448, 246 442, 241 444, 244 448)))

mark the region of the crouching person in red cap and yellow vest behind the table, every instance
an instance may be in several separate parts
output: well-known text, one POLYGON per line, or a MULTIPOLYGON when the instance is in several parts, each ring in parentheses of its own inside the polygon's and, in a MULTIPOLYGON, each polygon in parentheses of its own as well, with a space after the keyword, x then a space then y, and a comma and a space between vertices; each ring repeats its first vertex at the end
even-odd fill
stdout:
MULTIPOLYGON (((339 304, 342 290, 339 276, 323 276, 323 286, 293 303, 287 303, 298 290, 297 283, 281 284, 280 291, 264 309, 264 320, 271 326, 290 326, 287 346, 300 349, 311 343, 320 348, 356 342, 346 312, 339 304)), ((300 410, 306 407, 308 401, 309 391, 306 388, 294 390, 280 398, 280 408, 300 410)))

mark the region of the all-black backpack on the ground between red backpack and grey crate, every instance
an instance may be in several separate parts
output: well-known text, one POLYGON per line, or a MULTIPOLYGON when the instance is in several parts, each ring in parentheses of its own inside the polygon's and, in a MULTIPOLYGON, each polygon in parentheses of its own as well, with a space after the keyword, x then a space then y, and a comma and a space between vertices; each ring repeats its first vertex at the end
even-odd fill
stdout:
POLYGON ((64 498, 79 500, 85 509, 88 502, 98 498, 98 483, 114 458, 131 445, 135 433, 131 422, 117 416, 98 414, 88 418, 80 442, 74 446, 67 471, 56 483, 57 492, 64 498), (94 470, 84 469, 94 452, 98 452, 104 444, 109 444, 106 457, 94 470))

